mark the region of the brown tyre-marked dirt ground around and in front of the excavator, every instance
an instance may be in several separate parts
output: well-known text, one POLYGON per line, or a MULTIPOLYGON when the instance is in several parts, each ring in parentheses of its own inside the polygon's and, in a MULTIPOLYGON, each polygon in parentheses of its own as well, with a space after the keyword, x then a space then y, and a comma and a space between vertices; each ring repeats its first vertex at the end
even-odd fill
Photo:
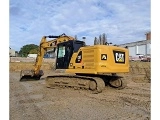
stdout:
MULTIPOLYGON (((72 88, 46 88, 45 70, 39 81, 19 82, 10 71, 10 120, 150 120, 150 85, 127 78, 127 87, 105 87, 99 94, 72 88)), ((57 74, 57 73, 56 73, 57 74)))

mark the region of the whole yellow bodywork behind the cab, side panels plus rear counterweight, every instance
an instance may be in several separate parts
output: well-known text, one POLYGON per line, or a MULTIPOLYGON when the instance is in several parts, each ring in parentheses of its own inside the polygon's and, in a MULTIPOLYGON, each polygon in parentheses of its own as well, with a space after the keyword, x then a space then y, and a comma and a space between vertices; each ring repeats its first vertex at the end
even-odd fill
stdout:
POLYGON ((72 73, 108 74, 129 72, 129 51, 115 46, 82 47, 71 59, 72 67, 67 70, 72 73), (80 54, 82 53, 82 54, 80 54), (79 57, 81 55, 82 57, 79 57), (76 63, 76 59, 80 62, 76 63))

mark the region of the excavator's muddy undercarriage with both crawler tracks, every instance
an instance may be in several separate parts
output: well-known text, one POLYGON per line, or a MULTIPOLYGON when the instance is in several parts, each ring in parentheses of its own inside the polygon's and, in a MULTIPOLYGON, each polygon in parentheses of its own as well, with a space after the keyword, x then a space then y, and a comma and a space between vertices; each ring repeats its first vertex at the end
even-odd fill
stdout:
POLYGON ((74 89, 91 90, 97 93, 101 93, 106 85, 116 89, 123 89, 126 87, 124 78, 106 75, 54 75, 47 76, 45 82, 48 88, 71 87, 74 89))

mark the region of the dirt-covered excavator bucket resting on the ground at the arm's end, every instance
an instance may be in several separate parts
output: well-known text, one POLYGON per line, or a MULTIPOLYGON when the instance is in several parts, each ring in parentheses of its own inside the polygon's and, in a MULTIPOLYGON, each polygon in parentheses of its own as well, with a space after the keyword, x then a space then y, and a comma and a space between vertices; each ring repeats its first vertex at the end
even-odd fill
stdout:
POLYGON ((39 80, 43 75, 44 75, 43 70, 40 70, 39 73, 36 75, 33 70, 21 70, 20 81, 39 80))

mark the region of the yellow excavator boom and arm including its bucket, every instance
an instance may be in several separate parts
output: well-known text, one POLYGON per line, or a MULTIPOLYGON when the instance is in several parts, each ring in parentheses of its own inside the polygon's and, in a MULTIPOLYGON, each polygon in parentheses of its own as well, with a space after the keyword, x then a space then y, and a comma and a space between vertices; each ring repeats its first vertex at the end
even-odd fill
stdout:
POLYGON ((46 53, 48 48, 56 48, 57 44, 66 42, 69 40, 75 40, 71 36, 67 36, 65 34, 59 36, 43 36, 39 45, 39 52, 37 54, 36 62, 34 64, 34 69, 32 70, 21 70, 20 73, 20 81, 23 80, 33 80, 40 79, 41 76, 44 75, 43 71, 40 70, 43 62, 44 54, 46 53), (53 40, 47 41, 46 38, 55 38, 53 40))

